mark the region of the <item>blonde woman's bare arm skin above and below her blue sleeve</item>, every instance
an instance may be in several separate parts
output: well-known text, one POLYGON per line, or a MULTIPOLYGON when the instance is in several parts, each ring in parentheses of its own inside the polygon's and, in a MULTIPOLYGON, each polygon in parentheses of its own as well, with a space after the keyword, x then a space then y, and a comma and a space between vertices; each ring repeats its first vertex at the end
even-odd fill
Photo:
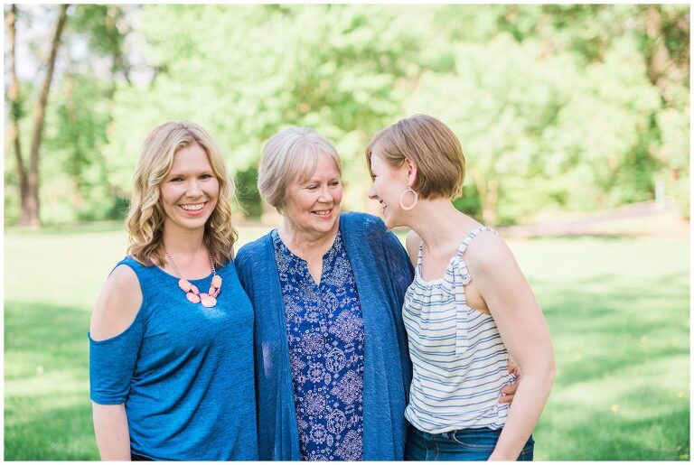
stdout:
MULTIPOLYGON (((89 324, 89 336, 96 343, 116 337, 133 323, 141 305, 142 291, 135 272, 127 265, 117 266, 98 296, 89 324)), ((133 350, 137 348, 133 347, 133 350)), ((125 404, 92 401, 92 414, 101 460, 130 460, 125 404)))

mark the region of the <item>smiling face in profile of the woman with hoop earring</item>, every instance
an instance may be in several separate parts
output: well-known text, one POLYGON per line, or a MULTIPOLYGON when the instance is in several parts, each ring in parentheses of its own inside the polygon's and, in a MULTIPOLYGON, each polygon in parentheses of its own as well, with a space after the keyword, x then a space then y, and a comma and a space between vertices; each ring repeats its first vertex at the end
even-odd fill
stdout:
MULTIPOLYGON (((386 228, 403 226, 403 217, 407 211, 400 208, 400 196, 408 189, 408 164, 402 163, 396 168, 378 153, 377 144, 370 157, 373 183, 369 190, 369 199, 380 202, 386 228)), ((408 205, 412 198, 406 195, 403 201, 408 205)))

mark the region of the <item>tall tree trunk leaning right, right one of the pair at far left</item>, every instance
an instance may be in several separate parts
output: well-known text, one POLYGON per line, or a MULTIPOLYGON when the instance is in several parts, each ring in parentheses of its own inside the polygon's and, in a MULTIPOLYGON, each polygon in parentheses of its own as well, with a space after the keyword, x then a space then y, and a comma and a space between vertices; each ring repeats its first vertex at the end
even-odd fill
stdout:
POLYGON ((39 149, 41 147, 43 122, 45 120, 46 105, 48 103, 48 92, 51 89, 53 70, 55 70, 55 58, 58 54, 58 48, 61 45, 62 30, 68 19, 68 6, 69 5, 61 5, 58 23, 55 25, 55 33, 53 34, 51 55, 47 62, 48 70, 46 71, 46 77, 43 79, 39 99, 33 107, 32 149, 29 159, 29 172, 26 174, 27 193, 26 198, 22 201, 22 213, 19 221, 23 226, 41 226, 41 218, 39 216, 39 149))

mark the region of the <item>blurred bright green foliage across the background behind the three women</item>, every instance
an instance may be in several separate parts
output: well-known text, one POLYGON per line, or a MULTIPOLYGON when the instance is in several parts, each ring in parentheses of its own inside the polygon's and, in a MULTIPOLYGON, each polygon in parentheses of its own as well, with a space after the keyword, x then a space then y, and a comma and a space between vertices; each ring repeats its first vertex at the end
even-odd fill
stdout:
MULTIPOLYGON (((36 14, 20 7, 17 42, 36 14)), ((689 211, 689 5, 74 5, 65 34, 44 222, 122 216, 138 146, 170 119, 220 141, 250 216, 262 144, 289 125, 333 141, 345 206, 366 209, 365 145, 420 112, 460 137, 456 205, 488 223, 652 200, 656 186, 689 211)), ((20 128, 37 92, 22 86, 20 128)), ((6 222, 20 216, 12 150, 6 222)))

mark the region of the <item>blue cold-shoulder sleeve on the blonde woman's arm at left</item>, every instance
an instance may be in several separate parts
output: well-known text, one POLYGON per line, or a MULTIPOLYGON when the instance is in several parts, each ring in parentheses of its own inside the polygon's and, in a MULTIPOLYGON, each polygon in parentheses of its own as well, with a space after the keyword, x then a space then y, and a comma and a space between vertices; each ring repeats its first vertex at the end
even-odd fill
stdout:
POLYGON ((137 312, 127 330, 104 340, 89 337, 89 397, 97 404, 126 402, 142 344, 144 322, 137 312))

